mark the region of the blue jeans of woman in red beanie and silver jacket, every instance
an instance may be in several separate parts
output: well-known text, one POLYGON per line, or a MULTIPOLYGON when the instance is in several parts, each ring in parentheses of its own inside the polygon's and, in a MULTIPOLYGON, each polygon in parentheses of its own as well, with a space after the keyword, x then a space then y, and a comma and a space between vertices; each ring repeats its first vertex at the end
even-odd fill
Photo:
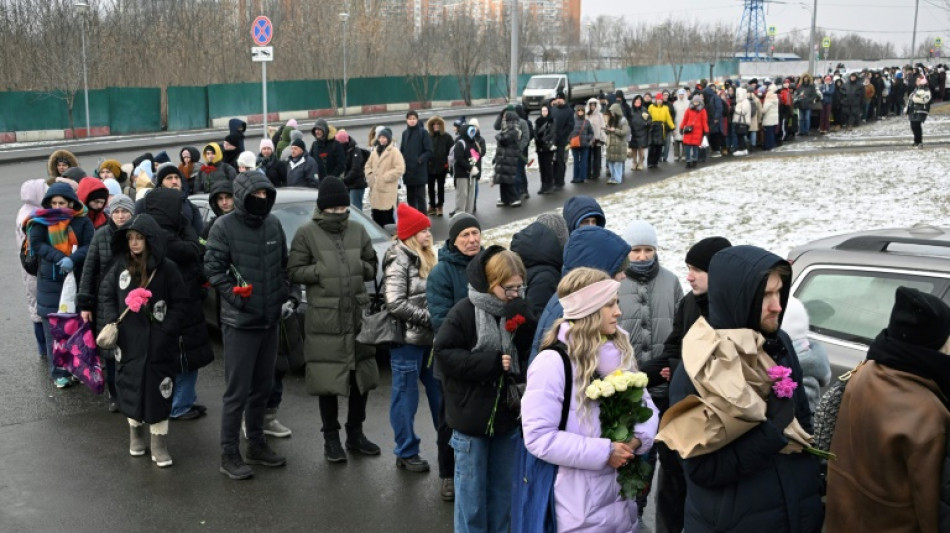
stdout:
POLYGON ((407 458, 419 453, 419 437, 413 431, 413 421, 419 408, 419 381, 426 388, 432 427, 438 430, 439 409, 442 405, 442 386, 432 375, 428 365, 431 346, 402 344, 389 351, 393 369, 393 389, 389 401, 389 424, 396 437, 397 457, 407 458))

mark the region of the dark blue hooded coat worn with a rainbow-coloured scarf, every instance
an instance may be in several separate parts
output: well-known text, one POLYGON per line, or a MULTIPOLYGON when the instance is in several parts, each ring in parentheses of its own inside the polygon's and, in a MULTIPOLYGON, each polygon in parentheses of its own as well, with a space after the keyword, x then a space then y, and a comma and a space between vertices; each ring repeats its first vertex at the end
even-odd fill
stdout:
MULTIPOLYGON (((49 209, 50 201, 54 196, 62 196, 72 201, 76 207, 82 206, 72 187, 65 183, 54 183, 46 191, 46 196, 43 197, 42 206, 44 209, 49 209)), ((76 235, 76 241, 78 242, 76 251, 68 254, 68 257, 73 261, 73 272, 76 276, 76 288, 78 290, 82 265, 86 260, 86 253, 89 252, 89 245, 92 243, 95 229, 92 227, 92 221, 87 217, 76 217, 70 221, 69 230, 76 235)), ((40 257, 40 270, 36 273, 36 314, 45 318, 46 315, 59 310, 59 297, 63 291, 66 272, 56 266, 56 263, 67 257, 67 254, 53 248, 53 245, 49 242, 49 230, 43 224, 32 224, 29 235, 30 248, 33 253, 40 257)))

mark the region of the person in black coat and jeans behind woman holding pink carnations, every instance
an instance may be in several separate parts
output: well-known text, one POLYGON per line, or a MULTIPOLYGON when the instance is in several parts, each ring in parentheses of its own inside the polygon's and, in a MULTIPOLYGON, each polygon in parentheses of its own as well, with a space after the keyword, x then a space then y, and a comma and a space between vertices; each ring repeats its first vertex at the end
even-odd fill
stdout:
POLYGON ((142 212, 151 216, 164 232, 165 257, 178 267, 185 287, 183 297, 187 307, 177 343, 179 367, 175 374, 170 417, 173 420, 193 420, 203 416, 207 410, 197 403, 198 369, 211 363, 214 353, 201 305, 204 299, 201 259, 205 249, 185 217, 181 201, 180 191, 160 187, 143 199, 142 212))

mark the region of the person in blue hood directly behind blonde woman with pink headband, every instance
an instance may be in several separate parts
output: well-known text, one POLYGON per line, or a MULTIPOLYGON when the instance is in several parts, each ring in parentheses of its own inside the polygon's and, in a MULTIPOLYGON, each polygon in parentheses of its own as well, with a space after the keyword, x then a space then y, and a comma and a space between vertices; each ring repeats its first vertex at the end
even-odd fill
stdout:
MULTIPOLYGON (((629 255, 630 245, 616 233, 600 226, 585 226, 571 232, 567 239, 561 276, 566 276, 578 267, 589 267, 603 270, 619 281, 626 275, 624 270, 630 263, 629 255)), ((557 293, 551 295, 538 320, 538 332, 531 344, 529 363, 541 350, 544 333, 551 329, 554 321, 561 318, 563 313, 564 308, 557 293)))

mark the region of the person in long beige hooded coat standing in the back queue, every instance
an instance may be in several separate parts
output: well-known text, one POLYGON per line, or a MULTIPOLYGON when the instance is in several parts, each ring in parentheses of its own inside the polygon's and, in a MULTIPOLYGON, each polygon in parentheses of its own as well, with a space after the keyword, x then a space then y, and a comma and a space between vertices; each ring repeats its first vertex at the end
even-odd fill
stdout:
POLYGON ((396 190, 406 172, 406 162, 393 144, 393 132, 383 128, 376 136, 376 147, 366 162, 366 183, 373 221, 380 226, 395 224, 396 190))

